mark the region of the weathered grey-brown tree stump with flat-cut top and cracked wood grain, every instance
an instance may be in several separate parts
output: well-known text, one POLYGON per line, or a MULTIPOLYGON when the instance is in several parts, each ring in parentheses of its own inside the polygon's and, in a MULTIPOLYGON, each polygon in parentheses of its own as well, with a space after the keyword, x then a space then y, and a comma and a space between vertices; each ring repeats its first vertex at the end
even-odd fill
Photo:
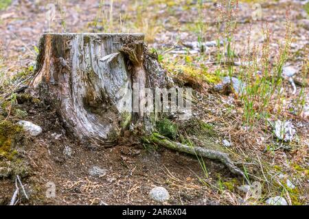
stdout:
MULTIPOLYGON (((35 73, 30 90, 56 109, 69 132, 105 145, 149 120, 140 109, 125 110, 136 107, 134 84, 155 90, 168 83, 143 34, 44 34, 35 73)), ((138 108, 146 96, 137 95, 138 108)))

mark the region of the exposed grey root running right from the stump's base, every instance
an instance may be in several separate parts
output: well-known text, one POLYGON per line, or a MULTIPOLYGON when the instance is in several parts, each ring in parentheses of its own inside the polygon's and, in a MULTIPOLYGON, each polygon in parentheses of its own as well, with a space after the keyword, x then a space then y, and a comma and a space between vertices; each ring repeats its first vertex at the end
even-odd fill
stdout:
POLYGON ((248 181, 247 177, 245 177, 244 175, 244 172, 242 172, 242 170, 240 170, 235 164, 233 164, 227 153, 209 150, 201 148, 199 146, 187 146, 179 142, 173 142, 171 140, 168 140, 168 138, 161 136, 159 133, 152 133, 152 135, 150 136, 150 141, 155 144, 159 144, 160 146, 164 146, 165 148, 172 149, 174 151, 180 151, 188 153, 190 155, 197 155, 208 159, 218 160, 222 162, 222 164, 225 164, 225 166, 227 166, 227 168, 229 168, 232 173, 236 175, 241 175, 242 177, 244 177, 244 179, 248 181))

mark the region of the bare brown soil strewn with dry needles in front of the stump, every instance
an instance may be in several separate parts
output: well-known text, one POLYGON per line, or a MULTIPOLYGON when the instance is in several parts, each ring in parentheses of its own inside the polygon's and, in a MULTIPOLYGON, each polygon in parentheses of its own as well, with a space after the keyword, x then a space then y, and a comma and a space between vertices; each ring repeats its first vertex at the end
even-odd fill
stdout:
MULTIPOLYGON (((33 205, 156 205, 148 197, 155 186, 167 188, 171 194, 169 205, 219 204, 209 196, 198 182, 196 175, 203 171, 196 157, 158 149, 146 151, 141 142, 119 140, 110 148, 98 148, 80 144, 67 136, 66 131, 52 110, 23 103, 28 112, 27 120, 43 127, 40 138, 27 138, 27 144, 19 148, 31 171, 27 175, 26 189, 32 197, 25 203, 33 205), (54 136, 62 135, 55 139, 54 136), (70 156, 63 153, 65 146, 72 149, 70 156), (89 170, 98 166, 106 170, 104 175, 91 176, 89 170), (46 198, 47 183, 56 185, 56 197, 46 198)), ((134 136, 133 136, 134 137, 134 136)), ((133 138, 134 139, 134 138, 133 138)), ((138 140, 138 139, 137 139, 138 140)), ((211 172, 230 177, 225 166, 206 162, 211 172)), ((214 175, 216 178, 216 175, 214 175)), ((240 179, 241 180, 241 179, 240 179)), ((12 179, 1 181, 1 196, 7 203, 14 183, 12 179)), ((222 204, 222 203, 221 203, 222 204)))

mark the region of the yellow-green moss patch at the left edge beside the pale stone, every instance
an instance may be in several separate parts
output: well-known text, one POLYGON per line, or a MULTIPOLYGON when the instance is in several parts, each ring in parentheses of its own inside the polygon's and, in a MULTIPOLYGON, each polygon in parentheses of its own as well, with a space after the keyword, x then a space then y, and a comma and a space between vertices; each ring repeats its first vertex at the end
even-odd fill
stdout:
POLYGON ((12 149, 12 144, 16 140, 16 136, 20 136, 23 128, 19 125, 14 125, 10 121, 2 121, 0 123, 0 159, 14 159, 17 154, 12 149))

